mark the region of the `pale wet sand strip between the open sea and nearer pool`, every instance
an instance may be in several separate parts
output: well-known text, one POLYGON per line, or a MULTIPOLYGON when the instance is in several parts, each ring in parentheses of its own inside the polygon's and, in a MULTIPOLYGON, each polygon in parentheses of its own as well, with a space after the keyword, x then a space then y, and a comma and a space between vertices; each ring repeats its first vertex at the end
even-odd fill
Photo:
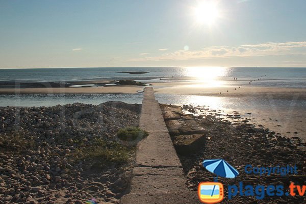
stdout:
MULTIPOLYGON (((105 84, 109 81, 75 82, 81 84, 105 84)), ((162 82, 151 83, 156 93, 184 94, 223 97, 270 96, 273 98, 306 99, 306 88, 257 87, 209 85, 200 82, 162 82), (235 90, 236 89, 236 90, 235 90), (228 92, 227 92, 228 91, 228 92), (221 93, 221 94, 220 94, 221 93)), ((105 87, 37 87, 37 88, 0 88, 0 94, 106 94, 106 93, 137 93, 142 86, 105 86, 105 87)))

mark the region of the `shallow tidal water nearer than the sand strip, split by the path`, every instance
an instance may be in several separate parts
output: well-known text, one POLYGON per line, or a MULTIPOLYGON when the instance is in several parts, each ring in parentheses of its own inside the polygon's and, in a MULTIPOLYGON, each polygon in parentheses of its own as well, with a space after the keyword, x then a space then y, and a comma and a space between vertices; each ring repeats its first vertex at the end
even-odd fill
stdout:
MULTIPOLYGON (((272 99, 269 97, 220 97, 220 96, 196 96, 181 94, 155 94, 161 104, 191 104, 206 106, 211 109, 265 109, 270 110, 275 105, 281 109, 295 107, 306 110, 305 100, 272 99)), ((29 95, 0 95, 0 106, 56 106, 73 103, 99 105, 106 101, 123 101, 129 104, 141 104, 142 93, 135 94, 29 94, 29 95)))

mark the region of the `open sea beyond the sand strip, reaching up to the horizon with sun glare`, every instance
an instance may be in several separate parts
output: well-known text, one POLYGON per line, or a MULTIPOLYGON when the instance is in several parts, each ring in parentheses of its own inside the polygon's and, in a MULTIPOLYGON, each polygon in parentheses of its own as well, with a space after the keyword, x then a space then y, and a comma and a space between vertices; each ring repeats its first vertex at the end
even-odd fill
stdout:
POLYGON ((261 86, 306 87, 306 68, 277 67, 119 67, 119 68, 48 68, 0 69, 0 81, 22 80, 38 82, 63 82, 85 80, 119 80, 133 78, 154 81, 160 78, 195 77, 215 79, 226 84, 238 80, 262 79, 261 86), (145 74, 117 73, 120 71, 148 71, 145 74))

